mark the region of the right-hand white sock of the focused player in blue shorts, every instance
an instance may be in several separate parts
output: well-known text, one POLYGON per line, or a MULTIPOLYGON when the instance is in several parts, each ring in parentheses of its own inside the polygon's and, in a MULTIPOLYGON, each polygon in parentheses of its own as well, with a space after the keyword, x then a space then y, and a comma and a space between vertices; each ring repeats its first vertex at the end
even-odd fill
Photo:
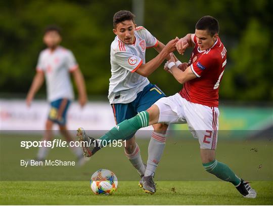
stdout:
POLYGON ((148 161, 144 176, 153 175, 165 148, 166 134, 153 132, 148 147, 148 161))

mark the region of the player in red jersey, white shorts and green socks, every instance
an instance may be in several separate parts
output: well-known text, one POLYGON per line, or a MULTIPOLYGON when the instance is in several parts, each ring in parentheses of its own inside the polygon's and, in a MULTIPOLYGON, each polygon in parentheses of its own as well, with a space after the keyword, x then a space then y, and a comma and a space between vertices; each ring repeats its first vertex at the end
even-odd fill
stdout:
MULTIPOLYGON (((184 54, 188 47, 194 47, 189 63, 184 63, 184 69, 180 69, 175 64, 173 54, 170 54, 164 68, 180 84, 184 84, 183 89, 173 96, 159 99, 147 111, 119 123, 100 139, 125 139, 140 128, 158 122, 188 123, 192 135, 199 140, 204 169, 223 181, 231 182, 244 197, 255 198, 256 191, 248 182, 215 159, 219 127, 218 90, 226 64, 226 49, 218 36, 219 25, 215 18, 204 16, 195 28, 195 34, 187 34, 176 44, 180 54, 184 54)), ((88 149, 94 154, 101 147, 96 140, 92 140, 94 144, 88 149)), ((153 194, 152 176, 147 179, 144 185, 147 184, 146 190, 153 194)))

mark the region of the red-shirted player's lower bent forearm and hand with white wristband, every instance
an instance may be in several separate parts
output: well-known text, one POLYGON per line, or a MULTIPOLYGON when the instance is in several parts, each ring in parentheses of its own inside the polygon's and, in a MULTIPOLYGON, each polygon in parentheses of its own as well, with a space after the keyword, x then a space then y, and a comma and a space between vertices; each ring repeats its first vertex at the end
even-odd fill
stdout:
POLYGON ((169 73, 171 73, 174 78, 178 81, 178 83, 180 84, 184 84, 187 81, 196 78, 197 76, 194 74, 194 72, 192 71, 191 67, 187 67, 185 69, 185 71, 179 69, 176 65, 175 65, 175 59, 173 54, 170 54, 170 60, 168 61, 168 65, 167 67, 164 67, 164 69, 166 71, 169 71, 169 73))

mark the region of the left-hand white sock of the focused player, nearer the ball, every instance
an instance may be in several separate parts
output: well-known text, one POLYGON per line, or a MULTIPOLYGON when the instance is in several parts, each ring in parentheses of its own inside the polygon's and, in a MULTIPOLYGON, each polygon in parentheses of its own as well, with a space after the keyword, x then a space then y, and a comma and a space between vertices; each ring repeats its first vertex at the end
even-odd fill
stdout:
POLYGON ((145 166, 141 158, 139 145, 135 143, 134 150, 131 154, 127 154, 125 150, 124 152, 125 155, 128 157, 129 161, 131 162, 132 166, 138 171, 138 173, 140 175, 144 175, 145 166))

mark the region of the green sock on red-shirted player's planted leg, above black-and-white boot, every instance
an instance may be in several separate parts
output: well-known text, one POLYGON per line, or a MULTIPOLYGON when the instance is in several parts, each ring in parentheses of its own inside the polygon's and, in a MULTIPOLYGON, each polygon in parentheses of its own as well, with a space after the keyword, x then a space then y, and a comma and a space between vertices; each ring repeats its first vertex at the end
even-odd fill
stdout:
POLYGON ((240 184, 241 179, 234 174, 229 166, 217 161, 216 159, 203 164, 203 167, 207 172, 215 175, 217 178, 223 181, 231 182, 235 186, 238 186, 240 184))

